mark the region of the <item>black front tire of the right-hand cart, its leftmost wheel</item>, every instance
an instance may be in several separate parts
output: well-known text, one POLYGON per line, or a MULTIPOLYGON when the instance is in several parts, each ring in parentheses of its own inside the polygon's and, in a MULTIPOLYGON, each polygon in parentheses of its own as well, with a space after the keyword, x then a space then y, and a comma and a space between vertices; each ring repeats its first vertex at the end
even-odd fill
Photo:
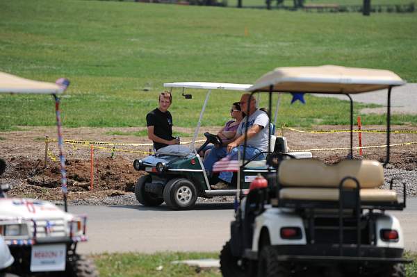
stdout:
POLYGON ((220 271, 222 271, 222 276, 224 277, 255 276, 254 262, 232 255, 230 242, 226 242, 220 252, 220 271))

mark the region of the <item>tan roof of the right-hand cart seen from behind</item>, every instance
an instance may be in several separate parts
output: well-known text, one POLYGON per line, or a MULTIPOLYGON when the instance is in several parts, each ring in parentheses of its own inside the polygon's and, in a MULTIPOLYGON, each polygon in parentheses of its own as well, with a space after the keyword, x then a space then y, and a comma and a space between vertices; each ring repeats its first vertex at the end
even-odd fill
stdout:
POLYGON ((389 70, 339 67, 277 67, 259 78, 250 92, 355 94, 382 90, 406 82, 389 70))

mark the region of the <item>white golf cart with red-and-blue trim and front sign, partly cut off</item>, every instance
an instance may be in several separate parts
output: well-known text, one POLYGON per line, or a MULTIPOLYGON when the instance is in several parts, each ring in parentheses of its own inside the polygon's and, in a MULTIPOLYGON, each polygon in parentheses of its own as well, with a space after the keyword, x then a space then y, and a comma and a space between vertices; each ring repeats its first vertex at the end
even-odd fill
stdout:
POLYGON ((20 276, 98 276, 93 263, 76 253, 77 244, 87 240, 87 218, 67 212, 67 179, 57 96, 67 85, 69 81, 63 78, 54 84, 0 72, 0 93, 51 94, 56 101, 65 211, 48 201, 7 198, 4 192, 10 185, 3 183, 0 187, 0 235, 15 260, 7 270, 20 276))

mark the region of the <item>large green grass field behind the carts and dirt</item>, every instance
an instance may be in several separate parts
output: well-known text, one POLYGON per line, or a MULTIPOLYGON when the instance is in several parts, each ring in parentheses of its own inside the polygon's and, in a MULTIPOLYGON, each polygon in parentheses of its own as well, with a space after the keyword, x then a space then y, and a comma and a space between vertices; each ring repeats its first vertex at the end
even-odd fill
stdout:
MULTIPOLYGON (((253 83, 275 67, 324 64, 391 69, 416 82, 416 27, 415 14, 0 0, 0 71, 42 81, 70 78, 61 106, 66 127, 144 126, 166 82, 253 83)), ((201 92, 186 100, 174 91, 174 125, 195 126, 203 99, 201 92)), ((238 99, 238 92, 213 93, 202 124, 224 124, 238 99)), ((285 96, 279 124, 348 123, 347 102, 305 99, 305 106, 290 106, 285 96)), ((51 96, 1 95, 0 109, 2 130, 54 124, 51 96)), ((383 122, 363 116, 364 124, 383 122)), ((393 124, 416 122, 416 116, 393 118, 393 124)))

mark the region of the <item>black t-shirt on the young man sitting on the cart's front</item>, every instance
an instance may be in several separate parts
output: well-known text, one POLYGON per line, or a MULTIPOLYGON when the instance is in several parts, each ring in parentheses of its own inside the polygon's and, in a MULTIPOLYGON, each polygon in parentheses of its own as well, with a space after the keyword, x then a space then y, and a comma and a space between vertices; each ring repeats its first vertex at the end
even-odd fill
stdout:
MULTIPOLYGON (((158 108, 152 110, 146 115, 147 126, 154 126, 154 135, 161 137, 164 140, 174 140, 172 137, 172 116, 171 113, 161 112, 158 108)), ((167 146, 167 144, 154 142, 156 150, 167 146)))

